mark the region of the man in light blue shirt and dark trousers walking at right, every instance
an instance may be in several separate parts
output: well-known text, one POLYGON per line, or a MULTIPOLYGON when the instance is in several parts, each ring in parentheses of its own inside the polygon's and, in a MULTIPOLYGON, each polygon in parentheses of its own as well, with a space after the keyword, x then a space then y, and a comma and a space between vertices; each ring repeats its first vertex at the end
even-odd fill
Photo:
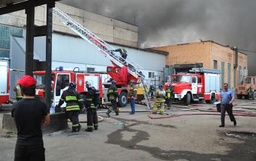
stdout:
POLYGON ((223 91, 220 93, 220 102, 221 104, 221 116, 220 120, 222 121, 222 124, 219 127, 224 127, 225 126, 225 114, 228 112, 230 120, 234 123, 234 126, 237 125, 237 121, 235 121, 235 117, 232 112, 232 102, 235 99, 234 92, 230 89, 228 89, 228 84, 225 83, 223 84, 223 91))

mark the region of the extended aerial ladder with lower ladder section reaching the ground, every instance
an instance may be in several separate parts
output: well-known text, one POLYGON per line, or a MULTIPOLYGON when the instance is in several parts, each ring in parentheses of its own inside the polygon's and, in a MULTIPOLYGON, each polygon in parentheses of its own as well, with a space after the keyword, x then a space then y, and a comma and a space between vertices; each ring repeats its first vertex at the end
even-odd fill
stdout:
POLYGON ((80 25, 78 22, 73 20, 67 14, 63 13, 59 8, 53 8, 53 14, 57 16, 62 22, 76 34, 80 35, 88 43, 92 44, 100 53, 110 59, 112 64, 118 67, 127 67, 128 73, 131 74, 138 84, 142 86, 142 92, 147 103, 147 107, 152 109, 152 105, 147 94, 146 86, 144 84, 144 75, 139 69, 143 69, 141 66, 130 60, 129 58, 122 58, 120 54, 114 52, 115 48, 107 44, 105 41, 98 38, 91 31, 80 25))

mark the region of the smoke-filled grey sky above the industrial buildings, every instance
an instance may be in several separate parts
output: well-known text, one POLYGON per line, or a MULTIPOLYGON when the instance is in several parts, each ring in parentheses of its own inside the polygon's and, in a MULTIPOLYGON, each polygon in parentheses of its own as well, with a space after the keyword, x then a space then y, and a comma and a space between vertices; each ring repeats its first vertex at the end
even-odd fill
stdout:
MULTIPOLYGON (((213 40, 256 51, 255 0, 63 0, 93 13, 138 25, 141 48, 213 40)), ((256 75, 256 52, 248 70, 256 75)))

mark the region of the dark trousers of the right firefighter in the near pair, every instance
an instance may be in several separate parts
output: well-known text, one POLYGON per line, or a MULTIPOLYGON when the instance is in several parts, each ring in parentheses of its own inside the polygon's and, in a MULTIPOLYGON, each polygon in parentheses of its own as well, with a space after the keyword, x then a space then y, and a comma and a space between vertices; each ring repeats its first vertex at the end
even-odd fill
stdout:
POLYGON ((89 108, 87 110, 87 129, 98 128, 98 116, 96 108, 89 108))

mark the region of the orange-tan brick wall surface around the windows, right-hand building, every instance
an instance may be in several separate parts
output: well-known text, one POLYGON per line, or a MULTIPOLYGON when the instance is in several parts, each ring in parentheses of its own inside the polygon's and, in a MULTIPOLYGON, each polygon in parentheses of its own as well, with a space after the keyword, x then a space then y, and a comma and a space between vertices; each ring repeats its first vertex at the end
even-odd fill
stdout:
MULTIPOLYGON (((229 87, 234 88, 234 62, 235 52, 229 47, 214 43, 213 41, 203 41, 197 43, 178 44, 173 46, 156 47, 155 50, 168 52, 166 56, 166 65, 174 64, 194 64, 203 63, 205 68, 214 68, 214 60, 217 61, 217 69, 221 70, 221 63, 224 62, 223 82, 228 82, 228 64, 229 87)), ((235 82, 238 84, 239 66, 247 69, 247 55, 238 53, 238 67, 235 70, 235 82)))

